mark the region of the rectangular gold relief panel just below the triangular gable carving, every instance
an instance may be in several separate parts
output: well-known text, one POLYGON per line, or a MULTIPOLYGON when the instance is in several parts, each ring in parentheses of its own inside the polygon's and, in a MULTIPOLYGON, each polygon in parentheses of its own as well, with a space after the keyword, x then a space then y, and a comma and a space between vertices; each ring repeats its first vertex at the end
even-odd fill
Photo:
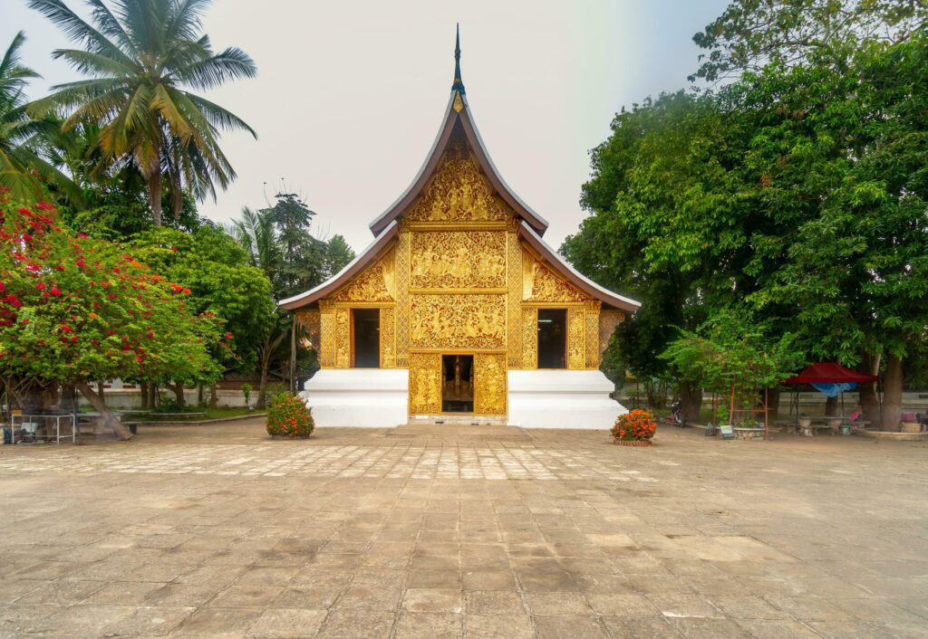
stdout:
POLYGON ((412 236, 410 288, 506 286, 506 234, 432 231, 412 236))

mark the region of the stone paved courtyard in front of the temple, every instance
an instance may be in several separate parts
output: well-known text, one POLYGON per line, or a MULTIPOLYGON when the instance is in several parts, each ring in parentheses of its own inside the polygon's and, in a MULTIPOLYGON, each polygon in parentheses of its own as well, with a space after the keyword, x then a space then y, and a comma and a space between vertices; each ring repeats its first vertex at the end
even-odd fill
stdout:
POLYGON ((0 538, 0 636, 928 636, 923 443, 143 427, 0 448, 0 538))

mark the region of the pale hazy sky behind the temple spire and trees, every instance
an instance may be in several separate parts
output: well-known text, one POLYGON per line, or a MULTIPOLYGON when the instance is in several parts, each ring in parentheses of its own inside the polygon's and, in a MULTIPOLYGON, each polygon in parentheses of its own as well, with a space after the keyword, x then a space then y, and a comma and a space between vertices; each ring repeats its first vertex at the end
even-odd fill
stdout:
MULTIPOLYGON (((66 0, 83 11, 83 3, 66 0)), ((23 30, 23 61, 42 96, 78 79, 52 50, 70 47, 25 0, 0 0, 0 46, 23 30)), ((316 211, 314 234, 342 234, 355 250, 367 224, 413 180, 438 132, 454 76, 509 186, 548 220, 557 248, 586 217, 579 204, 589 149, 613 115, 690 85, 692 35, 727 0, 214 0, 203 15, 216 50, 254 58, 254 79, 204 94, 258 134, 225 134, 238 179, 200 212, 217 222, 261 208, 280 190, 316 211)))

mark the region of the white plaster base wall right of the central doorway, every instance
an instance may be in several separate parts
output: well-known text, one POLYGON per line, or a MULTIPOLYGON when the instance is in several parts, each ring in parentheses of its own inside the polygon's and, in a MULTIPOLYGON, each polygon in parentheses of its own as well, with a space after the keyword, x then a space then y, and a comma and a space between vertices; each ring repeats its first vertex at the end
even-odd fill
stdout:
POLYGON ((598 370, 509 371, 509 424, 522 428, 611 428, 628 411, 598 370))

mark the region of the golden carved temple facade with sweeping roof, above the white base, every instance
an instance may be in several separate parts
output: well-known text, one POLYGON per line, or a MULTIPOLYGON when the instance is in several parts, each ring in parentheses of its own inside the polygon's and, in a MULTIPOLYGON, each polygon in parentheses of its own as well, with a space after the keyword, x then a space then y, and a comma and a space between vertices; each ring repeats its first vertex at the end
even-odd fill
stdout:
POLYGON ((562 262, 541 239, 547 225, 496 173, 458 65, 432 151, 371 224, 374 242, 281 306, 306 327, 323 370, 408 370, 410 415, 506 415, 509 370, 596 369, 638 308, 562 262), (539 335, 553 358, 539 361, 539 335))

